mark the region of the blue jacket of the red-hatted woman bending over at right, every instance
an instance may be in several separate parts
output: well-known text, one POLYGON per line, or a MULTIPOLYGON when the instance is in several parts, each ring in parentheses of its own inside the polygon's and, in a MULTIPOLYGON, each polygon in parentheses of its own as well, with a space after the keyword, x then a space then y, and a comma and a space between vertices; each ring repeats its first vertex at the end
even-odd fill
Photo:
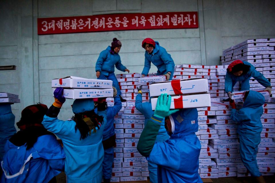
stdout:
MULTIPOLYGON (((225 76, 225 93, 232 92, 232 87, 235 85, 237 81, 244 81, 246 79, 250 79, 250 77, 254 77, 261 85, 264 87, 270 86, 270 82, 264 77, 264 75, 258 71, 256 71, 255 67, 246 61, 243 61, 243 64, 249 65, 249 71, 240 76, 235 76, 233 73, 226 72, 225 76), (233 83, 233 84, 232 84, 233 83)), ((249 85, 249 82, 248 82, 249 85)), ((245 88, 242 90, 249 90, 249 88, 245 88)))

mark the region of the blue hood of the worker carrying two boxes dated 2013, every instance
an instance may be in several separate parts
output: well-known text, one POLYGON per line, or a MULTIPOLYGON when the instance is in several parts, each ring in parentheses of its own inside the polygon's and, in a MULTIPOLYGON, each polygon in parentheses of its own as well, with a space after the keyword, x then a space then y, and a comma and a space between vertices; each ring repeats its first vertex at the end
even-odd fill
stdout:
POLYGON ((74 114, 83 113, 95 109, 95 103, 92 98, 76 99, 72 104, 72 112, 74 114))

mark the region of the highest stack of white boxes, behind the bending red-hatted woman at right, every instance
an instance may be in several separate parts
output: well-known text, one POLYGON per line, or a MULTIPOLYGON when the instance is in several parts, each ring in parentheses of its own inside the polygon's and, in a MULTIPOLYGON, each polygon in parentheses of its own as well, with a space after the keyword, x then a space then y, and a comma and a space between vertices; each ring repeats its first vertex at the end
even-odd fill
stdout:
MULTIPOLYGON (((248 39, 223 51, 222 65, 229 65, 236 59, 251 63, 257 71, 266 77, 271 86, 275 84, 275 38, 248 39)), ((251 89, 263 89, 253 77, 250 78, 251 89)), ((272 88, 275 94, 275 88, 272 88)))

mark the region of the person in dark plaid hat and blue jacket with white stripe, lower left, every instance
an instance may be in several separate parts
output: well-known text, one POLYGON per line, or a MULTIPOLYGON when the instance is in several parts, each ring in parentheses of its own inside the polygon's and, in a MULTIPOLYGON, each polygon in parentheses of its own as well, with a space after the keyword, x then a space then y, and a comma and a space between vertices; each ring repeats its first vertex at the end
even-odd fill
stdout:
POLYGON ((2 183, 56 182, 55 176, 64 171, 63 148, 41 124, 47 111, 46 105, 36 104, 21 112, 20 131, 5 145, 2 183))

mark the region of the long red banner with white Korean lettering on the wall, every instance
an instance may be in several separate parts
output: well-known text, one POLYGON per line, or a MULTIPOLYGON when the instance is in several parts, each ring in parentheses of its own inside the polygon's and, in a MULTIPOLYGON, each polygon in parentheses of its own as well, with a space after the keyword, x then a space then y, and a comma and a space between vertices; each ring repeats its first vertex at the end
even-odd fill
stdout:
POLYGON ((121 13, 38 18, 38 35, 145 29, 198 28, 198 12, 121 13))

